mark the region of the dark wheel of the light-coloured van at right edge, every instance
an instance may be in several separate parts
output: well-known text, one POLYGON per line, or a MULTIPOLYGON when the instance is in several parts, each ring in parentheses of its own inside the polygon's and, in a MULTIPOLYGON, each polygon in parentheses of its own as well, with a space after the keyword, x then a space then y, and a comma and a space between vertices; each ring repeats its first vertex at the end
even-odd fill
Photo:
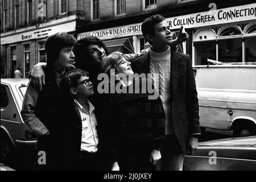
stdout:
POLYGON ((254 123, 248 123, 247 125, 238 125, 233 130, 233 137, 249 137, 256 135, 256 126, 254 123))

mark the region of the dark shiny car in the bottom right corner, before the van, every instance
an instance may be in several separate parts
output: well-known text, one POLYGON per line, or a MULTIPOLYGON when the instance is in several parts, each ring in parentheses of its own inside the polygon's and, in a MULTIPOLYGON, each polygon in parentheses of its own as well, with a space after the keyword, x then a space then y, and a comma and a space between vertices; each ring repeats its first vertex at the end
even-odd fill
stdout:
POLYGON ((184 171, 256 171, 256 136, 200 142, 184 171))

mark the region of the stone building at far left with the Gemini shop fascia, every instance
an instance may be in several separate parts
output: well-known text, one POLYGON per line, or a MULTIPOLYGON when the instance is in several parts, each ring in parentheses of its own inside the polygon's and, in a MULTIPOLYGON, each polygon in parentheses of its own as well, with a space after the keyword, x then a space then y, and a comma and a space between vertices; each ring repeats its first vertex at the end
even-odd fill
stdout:
POLYGON ((24 78, 32 67, 46 61, 44 43, 49 35, 76 34, 84 23, 84 1, 1 0, 1 77, 13 77, 20 68, 24 78))

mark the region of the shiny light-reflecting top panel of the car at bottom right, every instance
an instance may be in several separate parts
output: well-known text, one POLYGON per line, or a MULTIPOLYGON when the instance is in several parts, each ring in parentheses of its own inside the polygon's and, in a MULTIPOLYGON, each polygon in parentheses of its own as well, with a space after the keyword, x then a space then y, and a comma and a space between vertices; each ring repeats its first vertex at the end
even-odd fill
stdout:
POLYGON ((225 138, 218 140, 210 140, 200 142, 200 147, 256 147, 256 136, 240 137, 240 138, 225 138))

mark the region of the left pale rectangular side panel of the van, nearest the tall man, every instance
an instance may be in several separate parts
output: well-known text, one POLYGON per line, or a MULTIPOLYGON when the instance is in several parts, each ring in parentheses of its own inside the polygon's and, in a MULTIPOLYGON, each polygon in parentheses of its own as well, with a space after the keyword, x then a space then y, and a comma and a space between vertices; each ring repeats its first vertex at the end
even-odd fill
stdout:
POLYGON ((230 89, 232 71, 228 68, 200 68, 197 75, 197 88, 230 89))

